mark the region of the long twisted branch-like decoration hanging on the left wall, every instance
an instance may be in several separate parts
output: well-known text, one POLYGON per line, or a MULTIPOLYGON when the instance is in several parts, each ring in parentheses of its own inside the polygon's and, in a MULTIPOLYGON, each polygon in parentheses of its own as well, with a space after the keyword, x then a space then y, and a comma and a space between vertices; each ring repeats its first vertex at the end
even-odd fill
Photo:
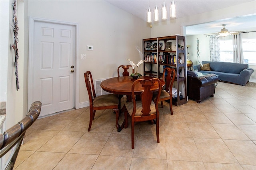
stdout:
POLYGON ((19 32, 19 28, 18 28, 18 20, 17 20, 17 16, 16 16, 16 12, 17 12, 17 6, 16 6, 16 0, 13 1, 12 4, 13 7, 13 18, 12 18, 12 22, 13 22, 13 33, 14 33, 14 43, 12 44, 12 48, 14 49, 14 55, 15 55, 15 77, 16 77, 16 89, 20 89, 20 85, 19 85, 19 78, 18 78, 18 59, 19 59, 19 51, 18 51, 18 47, 17 47, 17 43, 19 42, 18 39, 18 32, 19 32))

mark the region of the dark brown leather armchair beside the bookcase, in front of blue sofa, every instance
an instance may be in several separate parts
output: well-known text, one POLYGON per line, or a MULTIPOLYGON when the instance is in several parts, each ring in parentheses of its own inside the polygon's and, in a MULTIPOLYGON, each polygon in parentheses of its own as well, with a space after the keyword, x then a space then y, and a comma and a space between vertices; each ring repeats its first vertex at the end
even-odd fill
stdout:
POLYGON ((206 97, 213 97, 217 81, 215 74, 197 76, 194 71, 188 71, 188 98, 201 103, 206 97))

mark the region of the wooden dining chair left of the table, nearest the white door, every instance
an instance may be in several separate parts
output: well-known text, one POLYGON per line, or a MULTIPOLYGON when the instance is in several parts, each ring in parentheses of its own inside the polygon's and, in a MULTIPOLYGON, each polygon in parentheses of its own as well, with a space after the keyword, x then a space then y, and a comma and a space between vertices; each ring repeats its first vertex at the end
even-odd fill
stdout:
POLYGON ((118 118, 119 118, 119 103, 118 103, 118 95, 108 94, 108 95, 101 95, 96 97, 96 93, 94 90, 92 73, 90 71, 86 71, 84 73, 84 80, 86 84, 86 88, 89 95, 90 101, 90 123, 88 132, 91 130, 92 127, 92 120, 94 119, 96 110, 103 110, 103 109, 113 109, 116 113, 116 128, 118 127, 118 118))

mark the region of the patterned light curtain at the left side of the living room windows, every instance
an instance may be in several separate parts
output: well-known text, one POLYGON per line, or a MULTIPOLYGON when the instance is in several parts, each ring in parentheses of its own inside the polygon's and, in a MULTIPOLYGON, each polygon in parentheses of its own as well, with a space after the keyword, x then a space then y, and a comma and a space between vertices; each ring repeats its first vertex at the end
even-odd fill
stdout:
POLYGON ((210 61, 220 61, 220 42, 216 35, 210 36, 210 61))

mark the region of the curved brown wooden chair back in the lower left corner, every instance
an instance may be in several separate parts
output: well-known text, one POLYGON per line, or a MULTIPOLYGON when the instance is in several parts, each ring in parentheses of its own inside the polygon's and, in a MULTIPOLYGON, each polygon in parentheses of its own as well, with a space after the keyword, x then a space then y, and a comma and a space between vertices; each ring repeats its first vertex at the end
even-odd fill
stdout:
POLYGON ((24 139, 26 130, 36 121, 41 112, 42 103, 36 101, 30 106, 28 115, 19 123, 0 134, 0 158, 7 152, 10 153, 3 170, 12 170, 18 156, 20 145, 24 139))

